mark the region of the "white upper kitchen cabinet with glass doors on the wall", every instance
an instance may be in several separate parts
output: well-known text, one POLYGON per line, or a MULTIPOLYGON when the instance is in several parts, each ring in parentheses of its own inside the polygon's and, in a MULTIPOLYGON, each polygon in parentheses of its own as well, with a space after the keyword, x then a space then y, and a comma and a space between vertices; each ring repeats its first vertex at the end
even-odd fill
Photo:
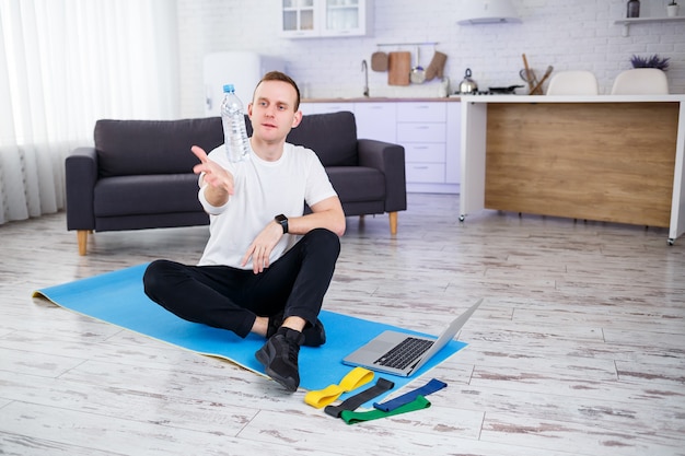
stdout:
POLYGON ((363 36, 371 32, 373 0, 278 0, 281 36, 363 36))

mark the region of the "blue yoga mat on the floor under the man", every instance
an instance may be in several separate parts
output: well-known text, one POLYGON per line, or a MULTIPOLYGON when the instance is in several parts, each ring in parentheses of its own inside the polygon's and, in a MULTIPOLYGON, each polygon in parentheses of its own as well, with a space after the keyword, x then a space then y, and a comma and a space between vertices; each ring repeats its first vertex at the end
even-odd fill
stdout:
MULTIPOLYGON (((263 365, 255 359, 255 352, 265 342, 263 337, 249 335, 247 338, 241 339, 232 331, 186 321, 165 311, 153 303, 143 292, 142 274, 147 266, 147 264, 139 265, 42 289, 35 291, 33 295, 44 296, 53 303, 79 314, 200 354, 223 358, 264 375, 263 365)), ((384 330, 394 329, 407 334, 420 334, 327 311, 322 311, 320 319, 326 328, 326 343, 317 348, 302 347, 300 350, 300 387, 309 390, 338 384, 351 370, 350 366, 342 364, 342 358, 384 330)), ((380 375, 394 382, 395 388, 393 390, 397 390, 464 347, 466 343, 453 340, 410 377, 376 373, 374 382, 380 375)), ((347 395, 356 393, 359 390, 347 395)), ((341 396, 341 399, 347 395, 341 396)))

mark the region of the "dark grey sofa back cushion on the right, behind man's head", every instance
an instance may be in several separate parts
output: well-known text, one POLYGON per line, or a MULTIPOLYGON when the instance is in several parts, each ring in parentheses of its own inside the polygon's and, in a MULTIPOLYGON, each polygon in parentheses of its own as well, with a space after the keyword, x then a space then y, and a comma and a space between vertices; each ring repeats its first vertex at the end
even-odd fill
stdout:
MULTIPOLYGON (((247 135, 252 136, 249 120, 247 135)), ((290 130, 286 141, 313 150, 324 166, 355 166, 359 163, 357 124, 355 115, 347 110, 302 116, 302 121, 290 130)))

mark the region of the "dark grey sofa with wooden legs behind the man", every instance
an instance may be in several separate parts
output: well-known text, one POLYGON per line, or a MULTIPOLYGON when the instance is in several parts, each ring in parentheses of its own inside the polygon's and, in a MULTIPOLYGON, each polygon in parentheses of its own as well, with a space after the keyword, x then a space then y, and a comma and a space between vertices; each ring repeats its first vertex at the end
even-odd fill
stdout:
MULTIPOLYGON (((93 231, 209 223, 190 147, 209 152, 223 143, 219 117, 98 120, 94 139, 94 148, 78 148, 66 160, 67 229, 78 233, 80 255, 93 231)), ((388 213, 391 233, 397 232, 397 212, 407 208, 402 145, 358 139, 348 112, 304 116, 288 142, 317 153, 346 215, 388 213)))

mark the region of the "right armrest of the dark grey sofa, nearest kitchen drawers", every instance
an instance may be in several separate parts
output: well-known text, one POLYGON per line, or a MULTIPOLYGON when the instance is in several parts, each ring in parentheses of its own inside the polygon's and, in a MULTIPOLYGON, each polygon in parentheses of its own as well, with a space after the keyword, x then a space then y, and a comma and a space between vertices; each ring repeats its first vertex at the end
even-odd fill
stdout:
POLYGON ((357 140, 359 165, 373 167, 385 175, 385 212, 407 209, 405 148, 373 139, 357 140))

